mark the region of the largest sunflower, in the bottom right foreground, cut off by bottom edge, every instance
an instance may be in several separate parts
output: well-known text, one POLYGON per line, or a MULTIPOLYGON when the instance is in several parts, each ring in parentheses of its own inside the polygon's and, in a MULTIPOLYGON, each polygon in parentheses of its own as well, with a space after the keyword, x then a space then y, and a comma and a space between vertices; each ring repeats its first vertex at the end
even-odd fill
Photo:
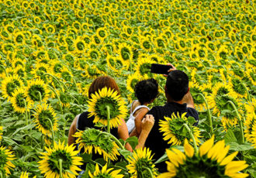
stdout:
POLYGON ((184 142, 185 154, 178 149, 166 149, 168 173, 162 173, 158 178, 171 177, 247 177, 247 173, 240 173, 247 168, 245 161, 232 161, 238 152, 227 156, 230 145, 225 146, 221 140, 213 145, 214 136, 204 142, 195 153, 187 140, 184 142))

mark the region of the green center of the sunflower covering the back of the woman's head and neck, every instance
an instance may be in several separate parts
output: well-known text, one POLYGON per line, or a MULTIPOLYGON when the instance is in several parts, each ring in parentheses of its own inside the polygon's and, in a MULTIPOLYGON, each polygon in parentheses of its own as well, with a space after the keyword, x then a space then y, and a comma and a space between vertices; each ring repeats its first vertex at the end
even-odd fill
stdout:
POLYGON ((95 104, 95 112, 99 115, 99 118, 107 119, 106 106, 109 106, 110 118, 116 118, 119 115, 118 102, 111 97, 105 97, 99 98, 95 104))

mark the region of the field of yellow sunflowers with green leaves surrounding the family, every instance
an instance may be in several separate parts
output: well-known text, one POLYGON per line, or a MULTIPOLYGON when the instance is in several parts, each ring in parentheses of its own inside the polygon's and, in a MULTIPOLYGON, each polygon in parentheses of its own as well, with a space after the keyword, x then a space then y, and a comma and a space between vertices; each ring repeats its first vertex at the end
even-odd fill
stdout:
POLYGON ((0 0, 0 178, 76 177, 82 163, 81 177, 256 177, 255 11, 255 0, 0 0), (166 77, 151 63, 189 75, 199 125, 161 121, 171 149, 160 160, 92 128, 74 135, 78 155, 67 135, 94 111, 96 77, 116 80, 124 119, 140 80, 157 80, 150 107, 164 105, 166 77))

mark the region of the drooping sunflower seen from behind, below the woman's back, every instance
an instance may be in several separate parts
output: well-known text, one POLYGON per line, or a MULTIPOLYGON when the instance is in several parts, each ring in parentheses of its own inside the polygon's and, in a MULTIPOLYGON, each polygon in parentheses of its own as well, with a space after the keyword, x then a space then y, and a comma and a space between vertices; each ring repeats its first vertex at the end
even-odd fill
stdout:
POLYGON ((95 128, 86 128, 85 131, 76 132, 74 137, 77 137, 76 143, 78 144, 78 149, 84 149, 84 152, 88 154, 93 153, 103 156, 104 160, 111 159, 116 160, 119 156, 119 146, 116 142, 112 141, 109 135, 104 135, 104 132, 99 131, 95 128), (103 133, 103 134, 102 134, 103 133))

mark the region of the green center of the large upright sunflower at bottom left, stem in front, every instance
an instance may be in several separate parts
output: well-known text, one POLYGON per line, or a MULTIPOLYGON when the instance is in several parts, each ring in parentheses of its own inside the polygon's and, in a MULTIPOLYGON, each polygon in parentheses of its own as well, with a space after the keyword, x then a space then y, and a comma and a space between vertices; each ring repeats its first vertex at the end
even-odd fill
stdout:
POLYGON ((62 159, 62 169, 69 170, 72 166, 72 158, 65 150, 56 150, 49 156, 48 164, 50 169, 55 173, 60 173, 58 160, 62 159))

